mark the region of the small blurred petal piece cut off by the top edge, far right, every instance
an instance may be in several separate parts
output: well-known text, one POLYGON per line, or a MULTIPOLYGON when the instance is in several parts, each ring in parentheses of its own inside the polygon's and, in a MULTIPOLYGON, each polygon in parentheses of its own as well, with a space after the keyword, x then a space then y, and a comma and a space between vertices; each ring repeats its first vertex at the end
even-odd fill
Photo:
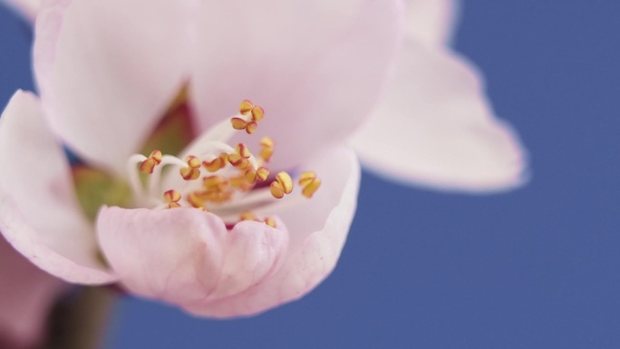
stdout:
POLYGON ((421 44, 450 44, 459 0, 406 0, 407 35, 421 44))

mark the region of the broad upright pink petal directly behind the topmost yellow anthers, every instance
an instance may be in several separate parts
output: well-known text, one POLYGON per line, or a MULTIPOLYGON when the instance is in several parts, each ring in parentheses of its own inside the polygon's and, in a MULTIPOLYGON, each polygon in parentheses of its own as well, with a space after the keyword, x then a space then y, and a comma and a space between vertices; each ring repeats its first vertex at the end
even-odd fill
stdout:
POLYGON ((378 98, 400 39, 399 5, 204 2, 192 75, 202 127, 233 116, 244 99, 256 102, 266 111, 257 135, 276 141, 274 168, 342 141, 378 98))

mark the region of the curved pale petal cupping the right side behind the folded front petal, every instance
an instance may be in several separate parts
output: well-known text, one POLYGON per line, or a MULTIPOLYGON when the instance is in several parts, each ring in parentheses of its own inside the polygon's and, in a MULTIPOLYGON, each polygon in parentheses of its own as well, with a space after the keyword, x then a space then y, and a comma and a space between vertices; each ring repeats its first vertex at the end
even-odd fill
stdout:
POLYGON ((315 170, 323 185, 313 199, 297 198, 302 199, 299 205, 272 212, 286 223, 290 232, 288 255, 282 267, 246 292, 188 304, 184 306, 186 310, 214 317, 255 315, 304 296, 332 272, 354 217, 359 164, 352 151, 341 148, 305 162, 303 169, 315 170))

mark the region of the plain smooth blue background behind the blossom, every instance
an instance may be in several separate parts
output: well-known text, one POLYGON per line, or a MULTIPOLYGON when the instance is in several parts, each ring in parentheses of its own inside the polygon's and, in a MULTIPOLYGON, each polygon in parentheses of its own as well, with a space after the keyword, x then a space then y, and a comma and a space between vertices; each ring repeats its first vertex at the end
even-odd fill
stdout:
MULTIPOLYGON (((301 301, 235 321, 125 299, 107 347, 620 348, 620 2, 465 1, 456 48, 531 154, 488 197, 363 173, 340 264, 301 301)), ((32 89, 0 10, 0 103, 32 89)))

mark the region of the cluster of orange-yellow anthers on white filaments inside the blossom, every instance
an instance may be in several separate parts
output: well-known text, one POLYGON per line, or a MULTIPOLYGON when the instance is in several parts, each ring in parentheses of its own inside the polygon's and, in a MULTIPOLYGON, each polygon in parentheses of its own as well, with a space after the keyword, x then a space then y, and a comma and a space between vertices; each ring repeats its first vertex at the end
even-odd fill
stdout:
MULTIPOLYGON (((258 122, 265 118, 263 108, 247 100, 241 102, 239 114, 230 119, 232 129, 246 131, 247 134, 257 131, 258 122)), ((251 210, 245 209, 256 206, 257 202, 265 202, 266 193, 270 197, 283 199, 293 192, 294 181, 286 171, 270 177, 266 164, 273 153, 274 141, 269 137, 260 141, 258 156, 252 154, 244 143, 232 148, 218 141, 214 141, 208 151, 201 154, 202 159, 196 155, 188 155, 185 160, 180 160, 164 155, 160 150, 153 150, 149 157, 140 154, 131 157, 131 185, 134 192, 142 191, 143 185, 136 172, 136 169, 139 169, 150 176, 146 187, 149 190, 150 203, 155 208, 199 208, 227 217, 230 216, 229 213, 237 211, 241 212, 237 213, 237 218, 228 219, 257 220, 275 228, 276 221, 273 218, 260 220, 251 210), (161 170, 170 165, 179 167, 179 175, 186 183, 185 188, 169 189, 163 193, 163 198, 154 198, 154 195, 159 195, 156 193, 159 191, 161 170), (266 191, 266 183, 269 181, 269 190, 266 191), (237 201, 237 204, 233 201, 237 201)), ((300 173, 298 184, 302 195, 312 198, 321 186, 321 179, 316 177, 315 172, 305 171, 300 173)))

